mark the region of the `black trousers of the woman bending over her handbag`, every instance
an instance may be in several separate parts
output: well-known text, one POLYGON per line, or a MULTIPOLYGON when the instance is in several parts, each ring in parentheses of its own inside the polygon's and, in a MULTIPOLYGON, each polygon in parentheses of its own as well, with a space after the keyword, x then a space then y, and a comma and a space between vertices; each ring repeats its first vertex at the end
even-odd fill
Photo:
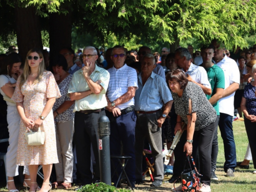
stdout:
MULTIPOLYGON (((211 168, 211 145, 214 137, 214 132, 216 126, 218 125, 218 120, 211 123, 210 125, 204 127, 199 131, 194 132, 193 136, 193 157, 196 159, 197 152, 199 153, 199 164, 200 167, 197 167, 200 170, 200 174, 203 175, 201 182, 207 185, 210 185, 210 168, 211 168), (198 148, 198 150, 197 150, 198 148)), ((187 131, 184 131, 180 141, 178 142, 174 153, 175 153, 175 162, 174 162, 174 177, 180 176, 183 168, 185 166, 186 152, 183 152, 184 144, 187 138, 187 131)), ((196 162, 197 163, 197 162, 196 162)))

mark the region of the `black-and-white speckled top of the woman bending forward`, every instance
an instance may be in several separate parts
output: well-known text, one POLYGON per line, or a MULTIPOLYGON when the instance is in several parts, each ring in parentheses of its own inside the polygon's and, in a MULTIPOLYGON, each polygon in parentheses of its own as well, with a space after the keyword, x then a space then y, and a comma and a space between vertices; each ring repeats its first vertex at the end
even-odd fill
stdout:
MULTIPOLYGON (((172 92, 172 91, 171 91, 172 92)), ((188 82, 181 97, 172 92, 174 108, 177 115, 187 123, 189 99, 192 101, 192 113, 197 113, 195 131, 199 131, 216 120, 217 113, 206 98, 202 88, 193 82, 188 82)))

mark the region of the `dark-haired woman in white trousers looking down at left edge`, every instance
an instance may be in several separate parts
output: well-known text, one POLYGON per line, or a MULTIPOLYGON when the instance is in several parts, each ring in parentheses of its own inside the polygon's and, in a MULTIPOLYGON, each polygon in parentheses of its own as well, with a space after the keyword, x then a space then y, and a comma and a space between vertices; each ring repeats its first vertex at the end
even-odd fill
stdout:
MULTIPOLYGON (((6 175, 8 176, 7 188, 10 192, 18 191, 15 187, 13 177, 18 175, 16 156, 20 117, 16 109, 16 103, 11 100, 11 97, 15 89, 12 85, 16 83, 20 65, 22 65, 22 58, 17 53, 11 53, 5 58, 0 72, 0 93, 3 95, 4 100, 7 103, 9 146, 6 154, 6 175)), ((24 186, 28 187, 30 185, 30 176, 27 166, 24 167, 24 174, 24 186)))

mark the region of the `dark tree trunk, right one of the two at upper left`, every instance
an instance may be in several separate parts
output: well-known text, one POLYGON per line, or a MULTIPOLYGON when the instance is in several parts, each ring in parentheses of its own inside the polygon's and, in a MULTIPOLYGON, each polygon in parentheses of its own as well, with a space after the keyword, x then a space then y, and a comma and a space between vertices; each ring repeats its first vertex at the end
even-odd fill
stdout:
POLYGON ((50 58, 62 48, 71 48, 71 11, 65 14, 51 13, 49 17, 50 58))

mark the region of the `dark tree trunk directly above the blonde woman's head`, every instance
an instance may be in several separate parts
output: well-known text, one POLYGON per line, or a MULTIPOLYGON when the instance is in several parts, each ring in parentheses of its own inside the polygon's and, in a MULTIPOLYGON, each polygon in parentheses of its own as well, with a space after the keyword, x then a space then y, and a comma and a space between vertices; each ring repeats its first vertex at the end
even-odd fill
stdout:
POLYGON ((25 61, 30 49, 42 50, 42 37, 38 15, 34 7, 15 8, 18 53, 25 61))

